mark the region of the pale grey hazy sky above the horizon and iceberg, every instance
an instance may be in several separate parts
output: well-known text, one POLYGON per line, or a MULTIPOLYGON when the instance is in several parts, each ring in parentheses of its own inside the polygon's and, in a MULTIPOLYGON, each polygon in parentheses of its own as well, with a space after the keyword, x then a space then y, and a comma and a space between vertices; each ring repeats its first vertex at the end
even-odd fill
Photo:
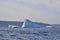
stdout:
POLYGON ((0 0, 0 21, 60 24, 60 0, 0 0))

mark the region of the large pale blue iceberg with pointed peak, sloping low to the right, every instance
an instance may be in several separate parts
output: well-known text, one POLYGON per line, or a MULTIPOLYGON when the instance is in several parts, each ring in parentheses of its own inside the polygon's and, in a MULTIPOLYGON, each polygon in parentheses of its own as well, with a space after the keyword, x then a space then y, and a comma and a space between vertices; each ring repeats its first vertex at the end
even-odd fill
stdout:
POLYGON ((50 27, 51 25, 50 24, 45 24, 45 23, 32 22, 28 19, 26 19, 23 22, 23 25, 22 25, 23 28, 40 28, 40 27, 46 27, 46 26, 50 27))

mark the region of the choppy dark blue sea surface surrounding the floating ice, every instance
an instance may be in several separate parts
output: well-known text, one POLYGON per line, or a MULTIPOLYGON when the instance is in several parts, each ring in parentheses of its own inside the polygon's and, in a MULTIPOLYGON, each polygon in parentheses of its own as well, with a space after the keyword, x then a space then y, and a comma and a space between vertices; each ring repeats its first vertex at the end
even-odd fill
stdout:
MULTIPOLYGON (((22 24, 22 23, 21 23, 22 24)), ((60 26, 21 28, 20 22, 0 22, 0 40, 60 40, 60 26), (8 25, 19 25, 9 28, 8 25)))

